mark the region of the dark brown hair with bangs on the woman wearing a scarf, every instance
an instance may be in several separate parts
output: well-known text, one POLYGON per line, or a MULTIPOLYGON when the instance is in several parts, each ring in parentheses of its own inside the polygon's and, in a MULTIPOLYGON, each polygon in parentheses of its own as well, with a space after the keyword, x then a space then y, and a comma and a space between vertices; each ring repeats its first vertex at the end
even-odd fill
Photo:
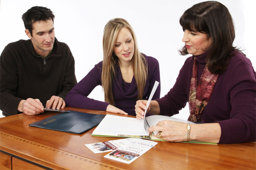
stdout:
MULTIPOLYGON (((233 47, 235 28, 228 8, 217 1, 195 4, 180 17, 180 25, 183 31, 206 33, 212 39, 206 56, 208 69, 212 73, 224 72, 234 50, 238 50, 233 47)), ((188 54, 186 46, 179 52, 181 55, 188 54)))

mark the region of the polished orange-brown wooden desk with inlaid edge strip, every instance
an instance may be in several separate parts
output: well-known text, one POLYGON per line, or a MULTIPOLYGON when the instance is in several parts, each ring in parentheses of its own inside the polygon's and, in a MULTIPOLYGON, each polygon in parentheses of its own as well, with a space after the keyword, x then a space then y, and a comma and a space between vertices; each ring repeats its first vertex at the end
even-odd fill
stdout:
MULTIPOLYGON (((105 111, 67 107, 95 114, 105 111)), ((120 138, 30 127, 28 124, 58 114, 36 116, 18 114, 0 118, 0 169, 256 169, 256 144, 204 145, 162 142, 131 164, 103 158, 109 152, 94 154, 84 144, 120 138)), ((130 116, 128 116, 130 117, 130 116)))

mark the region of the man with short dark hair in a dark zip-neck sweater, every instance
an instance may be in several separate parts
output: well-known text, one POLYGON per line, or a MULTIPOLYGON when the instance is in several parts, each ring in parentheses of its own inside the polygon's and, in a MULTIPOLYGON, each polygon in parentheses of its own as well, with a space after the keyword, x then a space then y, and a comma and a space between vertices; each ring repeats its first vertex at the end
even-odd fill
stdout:
POLYGON ((54 15, 35 6, 22 15, 28 40, 8 44, 0 56, 0 109, 4 116, 36 115, 63 109, 76 85, 75 61, 69 47, 55 38, 54 15))

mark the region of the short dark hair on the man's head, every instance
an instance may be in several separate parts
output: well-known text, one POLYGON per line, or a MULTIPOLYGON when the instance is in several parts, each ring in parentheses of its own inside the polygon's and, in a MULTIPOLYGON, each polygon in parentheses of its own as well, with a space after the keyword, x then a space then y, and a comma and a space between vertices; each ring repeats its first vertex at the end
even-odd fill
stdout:
POLYGON ((47 19, 52 19, 53 22, 54 17, 55 16, 50 9, 42 6, 33 6, 27 12, 25 12, 21 18, 24 22, 25 28, 28 29, 32 36, 33 23, 36 21, 46 21, 47 19))

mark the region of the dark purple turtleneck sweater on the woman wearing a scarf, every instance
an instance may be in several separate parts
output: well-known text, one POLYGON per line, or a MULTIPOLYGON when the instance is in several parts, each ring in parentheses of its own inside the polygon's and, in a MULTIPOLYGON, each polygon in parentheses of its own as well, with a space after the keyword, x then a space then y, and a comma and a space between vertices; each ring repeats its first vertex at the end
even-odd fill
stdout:
MULTIPOLYGON (((198 80, 206 65, 206 53, 196 56, 198 80)), ((193 58, 189 57, 173 88, 160 99, 160 115, 178 114, 188 102, 193 58)), ((236 51, 227 70, 220 74, 212 97, 201 113, 204 123, 218 122, 221 127, 219 144, 255 141, 256 134, 256 78, 251 61, 236 51)))

